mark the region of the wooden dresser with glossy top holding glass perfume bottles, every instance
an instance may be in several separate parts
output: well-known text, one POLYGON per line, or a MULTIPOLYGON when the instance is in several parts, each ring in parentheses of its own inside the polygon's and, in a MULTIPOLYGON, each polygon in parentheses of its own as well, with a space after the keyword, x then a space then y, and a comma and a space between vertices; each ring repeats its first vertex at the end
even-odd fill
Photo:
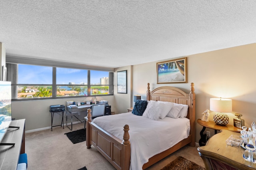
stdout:
POLYGON ((206 143, 206 146, 197 148, 201 158, 204 161, 206 170, 214 170, 216 165, 231 166, 238 170, 254 170, 256 164, 244 160, 244 148, 238 148, 226 144, 226 140, 230 135, 240 136, 240 133, 230 130, 221 130, 220 133, 212 136, 206 143), (212 164, 210 163, 212 162, 212 164))

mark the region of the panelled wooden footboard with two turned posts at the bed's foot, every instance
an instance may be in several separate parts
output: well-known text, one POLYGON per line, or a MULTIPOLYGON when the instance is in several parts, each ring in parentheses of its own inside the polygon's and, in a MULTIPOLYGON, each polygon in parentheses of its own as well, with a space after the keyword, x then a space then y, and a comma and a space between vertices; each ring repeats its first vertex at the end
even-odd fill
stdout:
POLYGON ((129 126, 124 125, 123 141, 92 123, 91 109, 88 109, 86 121, 86 146, 93 145, 117 170, 128 170, 130 167, 129 126))

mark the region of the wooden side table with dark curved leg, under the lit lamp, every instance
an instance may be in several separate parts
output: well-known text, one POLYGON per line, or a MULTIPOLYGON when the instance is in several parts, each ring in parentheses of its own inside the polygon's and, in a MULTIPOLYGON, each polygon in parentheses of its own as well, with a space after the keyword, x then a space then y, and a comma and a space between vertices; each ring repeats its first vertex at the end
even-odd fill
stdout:
POLYGON ((211 129, 214 129, 214 133, 217 134, 217 130, 222 130, 222 129, 225 129, 225 130, 230 130, 232 132, 240 132, 241 129, 240 128, 236 128, 234 127, 233 125, 225 125, 225 126, 221 126, 221 125, 217 125, 214 121, 209 121, 209 122, 205 122, 205 121, 202 121, 201 119, 197 119, 197 123, 199 125, 202 125, 203 128, 202 130, 200 131, 200 140, 199 140, 199 146, 204 146, 205 143, 206 143, 206 134, 203 134, 204 130, 206 128, 211 128, 211 129))

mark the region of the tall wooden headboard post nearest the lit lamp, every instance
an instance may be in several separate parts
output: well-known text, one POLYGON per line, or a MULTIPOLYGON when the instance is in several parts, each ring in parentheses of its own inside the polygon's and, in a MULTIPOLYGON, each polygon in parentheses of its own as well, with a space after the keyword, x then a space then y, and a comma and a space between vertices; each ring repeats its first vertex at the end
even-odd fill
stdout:
POLYGON ((192 141, 190 146, 194 147, 196 145, 196 94, 194 93, 194 83, 191 83, 190 93, 189 93, 189 119, 190 119, 190 133, 192 135, 192 141))

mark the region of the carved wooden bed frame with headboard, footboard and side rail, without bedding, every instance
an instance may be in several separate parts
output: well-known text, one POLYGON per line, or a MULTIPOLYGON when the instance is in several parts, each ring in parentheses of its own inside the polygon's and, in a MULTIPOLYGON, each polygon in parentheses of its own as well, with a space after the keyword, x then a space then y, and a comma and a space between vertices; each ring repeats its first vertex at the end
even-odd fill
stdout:
MULTIPOLYGON (((187 118, 190 119, 190 135, 188 138, 178 142, 172 148, 157 154, 149 159, 143 165, 143 169, 148 168, 152 164, 158 162, 162 158, 172 154, 183 146, 190 144, 195 146, 195 93, 194 83, 191 83, 190 93, 175 87, 164 86, 154 89, 152 92, 147 91, 147 100, 169 101, 173 103, 189 105, 187 118)), ((88 109, 86 121, 86 146, 91 148, 93 145, 117 170, 128 170, 130 168, 130 141, 129 141, 129 126, 124 125, 123 141, 116 138, 106 130, 102 129, 95 123, 92 123, 91 109, 88 109)))

